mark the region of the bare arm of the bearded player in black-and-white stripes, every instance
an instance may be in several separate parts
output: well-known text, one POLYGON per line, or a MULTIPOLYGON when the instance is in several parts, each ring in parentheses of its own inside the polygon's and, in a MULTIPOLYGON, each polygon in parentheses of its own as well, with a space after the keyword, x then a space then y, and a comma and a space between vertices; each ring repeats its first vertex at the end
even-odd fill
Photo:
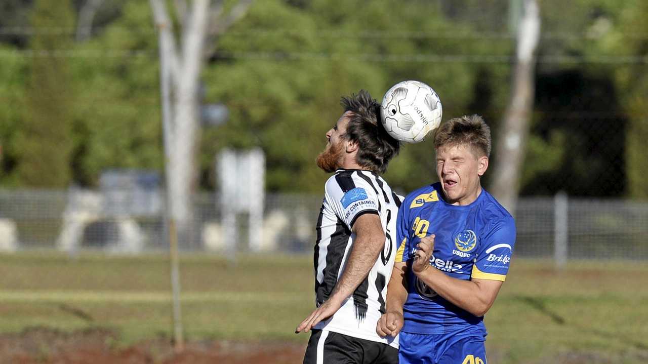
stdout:
POLYGON ((385 234, 380 224, 380 216, 376 214, 363 214, 353 224, 353 233, 356 234, 351 253, 346 267, 338 280, 329 299, 324 301, 304 321, 295 328, 295 334, 308 332, 320 321, 336 313, 347 297, 367 277, 371 267, 378 259, 380 251, 384 249, 385 234))

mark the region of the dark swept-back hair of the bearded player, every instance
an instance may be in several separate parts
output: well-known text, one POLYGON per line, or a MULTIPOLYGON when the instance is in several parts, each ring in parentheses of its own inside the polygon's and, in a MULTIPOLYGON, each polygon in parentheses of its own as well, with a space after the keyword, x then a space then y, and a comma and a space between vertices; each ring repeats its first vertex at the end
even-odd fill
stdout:
POLYGON ((341 99, 344 111, 351 111, 344 137, 358 143, 356 163, 378 174, 387 172, 389 161, 399 153, 400 142, 382 126, 380 104, 365 90, 341 99))

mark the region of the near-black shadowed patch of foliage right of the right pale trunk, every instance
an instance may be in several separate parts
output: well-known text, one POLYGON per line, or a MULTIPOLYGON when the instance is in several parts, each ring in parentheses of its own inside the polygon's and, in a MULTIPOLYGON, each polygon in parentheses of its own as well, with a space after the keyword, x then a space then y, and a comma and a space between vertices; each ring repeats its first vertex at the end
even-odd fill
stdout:
POLYGON ((627 119, 614 80, 579 69, 545 72, 538 76, 535 103, 521 192, 621 196, 627 119))

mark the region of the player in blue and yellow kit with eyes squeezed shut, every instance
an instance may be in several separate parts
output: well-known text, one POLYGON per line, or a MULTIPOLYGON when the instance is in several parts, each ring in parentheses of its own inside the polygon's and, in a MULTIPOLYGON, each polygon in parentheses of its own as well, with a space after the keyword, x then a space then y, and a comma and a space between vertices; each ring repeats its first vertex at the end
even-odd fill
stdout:
POLYGON ((400 245, 376 332, 399 334, 401 364, 485 364, 484 314, 509 270, 515 222, 480 183, 491 131, 478 115, 435 133, 439 182, 400 206, 400 245))

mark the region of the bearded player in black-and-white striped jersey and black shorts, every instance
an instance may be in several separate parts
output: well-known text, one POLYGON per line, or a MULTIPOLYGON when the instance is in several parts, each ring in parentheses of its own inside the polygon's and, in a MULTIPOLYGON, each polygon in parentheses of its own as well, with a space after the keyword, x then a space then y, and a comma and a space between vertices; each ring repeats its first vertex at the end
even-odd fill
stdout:
POLYGON ((344 113, 317 159, 332 173, 317 222, 317 309, 296 328, 312 329, 304 363, 398 362, 398 342, 376 334, 397 250, 402 198, 380 177, 400 148, 378 121, 366 91, 342 98, 344 113))

